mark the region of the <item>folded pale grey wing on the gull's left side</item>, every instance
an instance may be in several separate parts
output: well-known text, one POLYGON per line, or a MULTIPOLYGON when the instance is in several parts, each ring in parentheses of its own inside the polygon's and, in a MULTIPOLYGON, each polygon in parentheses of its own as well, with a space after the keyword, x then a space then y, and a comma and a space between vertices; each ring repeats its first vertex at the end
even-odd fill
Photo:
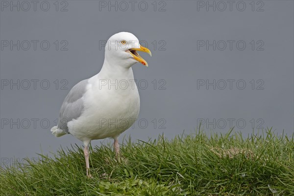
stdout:
POLYGON ((88 79, 82 80, 70 90, 69 94, 64 98, 59 112, 58 128, 69 133, 67 123, 81 116, 84 103, 83 95, 86 92, 88 79))

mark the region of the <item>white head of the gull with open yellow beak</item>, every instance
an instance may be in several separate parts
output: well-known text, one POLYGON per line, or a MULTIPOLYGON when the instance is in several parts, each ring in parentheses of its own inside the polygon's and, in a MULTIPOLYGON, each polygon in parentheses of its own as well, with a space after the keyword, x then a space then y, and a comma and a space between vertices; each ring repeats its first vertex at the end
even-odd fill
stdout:
POLYGON ((105 46, 105 61, 125 68, 130 68, 138 62, 148 67, 146 60, 137 51, 147 52, 151 56, 150 50, 141 46, 135 35, 120 32, 108 39, 105 46))

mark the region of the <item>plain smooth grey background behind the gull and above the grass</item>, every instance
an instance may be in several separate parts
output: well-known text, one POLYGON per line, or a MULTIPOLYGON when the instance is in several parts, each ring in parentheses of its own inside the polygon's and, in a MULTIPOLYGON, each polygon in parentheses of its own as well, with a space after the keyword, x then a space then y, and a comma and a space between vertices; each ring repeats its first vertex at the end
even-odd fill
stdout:
MULTIPOLYGON (((147 89, 139 88, 139 119, 144 119, 148 125, 143 128, 144 122, 141 125, 136 122, 134 128, 122 134, 121 142, 123 135, 131 135, 135 142, 137 139, 155 139, 162 133, 169 139, 184 130, 185 133, 194 133, 198 125, 197 119, 208 119, 209 122, 215 119, 215 128, 212 124, 205 124, 205 131, 227 132, 230 128, 227 119, 235 119, 235 130, 246 136, 252 133, 251 119, 254 119, 255 129, 262 123, 262 127, 272 126, 279 134, 284 130, 285 133, 292 135, 293 1, 261 1, 264 4, 264 11, 256 11, 262 5, 257 1, 252 11, 249 4, 251 0, 243 1, 246 4, 244 11, 236 8, 238 1, 233 4, 232 11, 229 10, 229 4, 224 11, 213 11, 211 7, 209 11, 206 11, 205 7, 198 7, 197 11, 197 1, 191 0, 157 1, 156 11, 151 4, 153 1, 144 2, 148 5, 146 11, 139 9, 140 1, 135 4, 134 11, 131 4, 128 4, 126 11, 122 11, 123 4, 117 11, 113 7, 111 11, 108 11, 107 7, 100 7, 99 11, 101 1, 94 0, 68 0, 68 11, 60 11, 65 3, 60 4, 56 11, 53 4, 55 0, 47 2, 50 4, 48 11, 42 11, 40 3, 37 4, 36 11, 33 7, 28 11, 16 11, 16 8, 10 11, 9 7, 2 7, 3 10, 0 11, 0 40, 39 40, 36 50, 32 45, 28 50, 17 50, 16 47, 12 50, 4 47, 0 50, 1 81, 47 79, 50 84, 48 90, 40 87, 40 81, 37 82, 35 90, 32 81, 28 90, 22 87, 18 90, 16 86, 2 86, 1 166, 11 165, 15 159, 37 157, 36 153, 40 152, 54 153, 60 146, 70 147, 74 143, 82 145, 71 135, 55 138, 51 135, 50 128, 58 118, 61 103, 73 85, 101 69, 104 48, 99 49, 99 41, 107 40, 120 31, 131 32, 139 40, 145 40, 153 54, 152 57, 142 54, 149 64, 148 68, 141 64, 133 66, 135 78, 138 81, 145 79, 148 83, 147 89), (162 6, 165 11, 158 10, 162 6), (40 48, 42 40, 49 41, 48 50, 40 48), (56 50, 53 44, 56 40, 59 44, 66 40, 68 50, 60 50, 63 44, 56 50), (209 43, 213 40, 235 40, 235 44, 232 50, 228 49, 229 46, 224 50, 213 50, 212 47, 208 50, 205 47, 197 50, 197 40, 209 40, 209 43), (239 40, 246 43, 244 50, 236 48, 236 42, 239 40), (255 42, 254 50, 250 45, 252 40, 255 42), (259 46, 257 41, 260 40, 264 43, 264 50, 256 50, 259 46), (154 41, 157 44, 155 48, 154 41), (58 90, 55 89, 56 79, 59 81, 58 90), (60 89, 64 84, 61 83, 63 79, 68 82, 68 90, 60 89), (152 83, 154 79, 157 81, 155 90, 152 83), (159 85, 163 84, 159 83, 161 79, 165 81, 165 90, 158 89, 159 85), (229 89, 227 83, 224 90, 217 87, 214 90, 212 86, 209 86, 208 90, 205 86, 197 89, 199 79, 208 79, 210 82, 214 79, 243 79, 246 87, 239 90, 236 83, 233 83, 232 89, 229 89), (252 79, 255 80, 254 90, 249 83, 252 79), (257 83, 259 79, 264 82, 263 90, 256 89, 260 84, 257 83), (11 119, 13 122, 17 119, 28 119, 31 124, 28 128, 24 128, 27 124, 20 123, 20 128, 17 125, 12 125, 11 128, 10 123, 3 124, 3 119, 8 119, 10 123, 11 119), (31 119, 39 119, 36 127, 33 126, 31 119), (44 128, 47 121, 43 122, 43 127, 40 125, 42 119, 50 122, 49 128, 44 128), (157 122, 155 127, 153 119, 157 122), (221 121, 217 124, 220 119, 226 121, 226 126, 222 127, 221 121), (238 119, 245 121, 244 128, 236 126, 238 119), (165 124, 160 127, 162 123, 165 124)), ((212 4, 214 1, 209 2, 212 4)), ((115 4, 115 1, 111 3, 115 4)), ((145 4, 141 4, 141 9, 144 9, 145 4)), ((44 7, 46 8, 45 5, 44 7)), ((241 5, 240 7, 242 8, 241 5)), ((242 122, 240 126, 243 126, 242 122)), ((107 144, 108 141, 93 141, 92 145, 100 145, 100 142, 107 144)))

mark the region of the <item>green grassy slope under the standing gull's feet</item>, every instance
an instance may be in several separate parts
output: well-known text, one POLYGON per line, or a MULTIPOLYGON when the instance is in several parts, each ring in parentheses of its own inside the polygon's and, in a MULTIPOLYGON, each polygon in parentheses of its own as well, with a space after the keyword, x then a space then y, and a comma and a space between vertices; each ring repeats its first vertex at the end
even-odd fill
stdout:
MULTIPOLYGON (((129 140, 130 141, 130 140, 129 140)), ((86 177, 83 150, 60 149, 0 171, 2 196, 294 196, 294 137, 271 129, 241 133, 159 136, 91 148, 86 177)))

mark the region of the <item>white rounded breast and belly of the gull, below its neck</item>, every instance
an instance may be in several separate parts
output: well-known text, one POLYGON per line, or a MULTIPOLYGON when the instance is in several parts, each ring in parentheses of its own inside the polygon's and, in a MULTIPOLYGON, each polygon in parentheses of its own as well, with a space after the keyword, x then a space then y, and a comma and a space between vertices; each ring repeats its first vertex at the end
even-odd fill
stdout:
POLYGON ((101 84, 105 83, 97 79, 88 84, 82 115, 68 123, 70 133, 82 141, 116 137, 138 118, 140 97, 133 81, 127 88, 101 84))

